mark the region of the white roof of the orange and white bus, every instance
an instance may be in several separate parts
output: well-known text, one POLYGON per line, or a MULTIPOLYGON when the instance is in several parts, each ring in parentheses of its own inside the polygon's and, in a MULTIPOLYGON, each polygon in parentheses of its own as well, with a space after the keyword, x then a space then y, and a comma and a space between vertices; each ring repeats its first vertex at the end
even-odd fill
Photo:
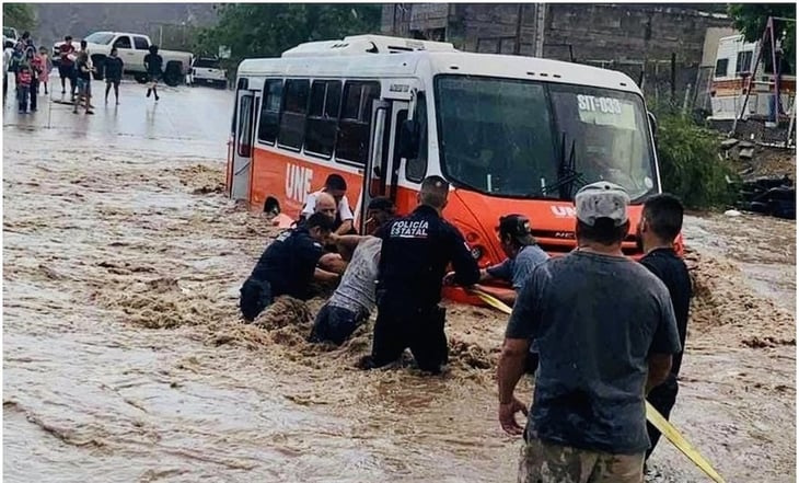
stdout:
POLYGON ((535 57, 473 54, 458 50, 246 59, 239 65, 239 76, 407 77, 417 72, 420 62, 429 64, 432 76, 450 73, 530 79, 640 94, 640 90, 633 79, 615 70, 535 57))

